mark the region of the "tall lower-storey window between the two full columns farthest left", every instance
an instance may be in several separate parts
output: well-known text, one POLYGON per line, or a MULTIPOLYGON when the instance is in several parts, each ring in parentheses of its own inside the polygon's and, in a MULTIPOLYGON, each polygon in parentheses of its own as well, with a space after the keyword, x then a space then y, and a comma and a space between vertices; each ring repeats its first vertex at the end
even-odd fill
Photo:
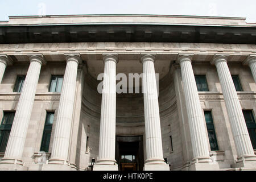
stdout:
POLYGON ((49 142, 51 139, 53 118, 54 112, 47 112, 40 151, 49 152, 49 142))

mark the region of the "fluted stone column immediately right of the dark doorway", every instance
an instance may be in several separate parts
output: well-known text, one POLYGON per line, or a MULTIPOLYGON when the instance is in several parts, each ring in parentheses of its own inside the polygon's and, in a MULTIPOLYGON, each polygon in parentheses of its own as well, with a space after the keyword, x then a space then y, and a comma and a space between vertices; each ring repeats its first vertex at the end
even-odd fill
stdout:
POLYGON ((170 168, 163 159, 158 92, 156 88, 154 68, 155 57, 152 55, 145 55, 141 58, 141 61, 143 64, 143 96, 146 135, 146 162, 144 164, 144 170, 169 171, 170 168))

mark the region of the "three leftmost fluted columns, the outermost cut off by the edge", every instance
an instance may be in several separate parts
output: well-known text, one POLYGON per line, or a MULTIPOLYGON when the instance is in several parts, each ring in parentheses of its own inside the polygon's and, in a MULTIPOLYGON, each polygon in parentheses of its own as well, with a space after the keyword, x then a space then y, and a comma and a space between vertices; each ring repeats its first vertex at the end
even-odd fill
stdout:
MULTIPOLYGON (((0 56, 0 71, 4 71, 7 63, 0 56)), ((40 69, 46 61, 42 55, 31 55, 30 66, 27 71, 26 79, 23 84, 22 92, 16 113, 11 127, 9 140, 6 146, 5 155, 1 164, 20 164, 22 162, 22 153, 27 135, 27 129, 30 122, 32 106, 38 85, 40 69)), ((77 67, 81 63, 79 55, 66 55, 67 66, 61 90, 59 109, 56 119, 55 133, 53 137, 53 146, 49 164, 66 164, 68 161, 69 138, 71 133, 71 123, 73 114, 73 105, 75 102, 75 89, 77 67)), ((3 72, 0 73, 3 76, 3 72)), ((2 77, 0 77, 2 80, 2 77)))

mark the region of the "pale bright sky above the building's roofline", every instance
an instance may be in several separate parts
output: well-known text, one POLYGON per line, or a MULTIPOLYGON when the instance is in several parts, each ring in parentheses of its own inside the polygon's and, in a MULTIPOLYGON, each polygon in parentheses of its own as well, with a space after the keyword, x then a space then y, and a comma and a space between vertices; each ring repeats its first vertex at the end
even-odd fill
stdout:
POLYGON ((159 14, 236 16, 256 22, 256 0, 0 0, 0 20, 14 15, 159 14))

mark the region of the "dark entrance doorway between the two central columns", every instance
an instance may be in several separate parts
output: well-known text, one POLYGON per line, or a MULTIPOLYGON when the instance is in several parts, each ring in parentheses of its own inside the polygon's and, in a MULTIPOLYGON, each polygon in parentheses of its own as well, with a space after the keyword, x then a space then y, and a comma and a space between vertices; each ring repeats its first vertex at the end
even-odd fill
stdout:
POLYGON ((144 166, 143 138, 116 137, 115 159, 119 171, 142 171, 144 166))

